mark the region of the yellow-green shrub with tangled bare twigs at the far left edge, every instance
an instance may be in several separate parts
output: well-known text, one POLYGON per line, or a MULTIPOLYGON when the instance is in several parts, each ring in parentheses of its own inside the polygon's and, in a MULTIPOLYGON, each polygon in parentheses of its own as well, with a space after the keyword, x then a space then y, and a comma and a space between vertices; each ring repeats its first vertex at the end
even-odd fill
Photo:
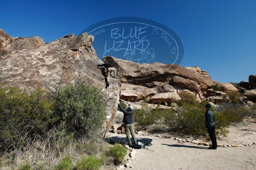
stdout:
POLYGON ((0 86, 0 149, 23 147, 41 139, 58 120, 52 107, 41 88, 28 93, 0 86))

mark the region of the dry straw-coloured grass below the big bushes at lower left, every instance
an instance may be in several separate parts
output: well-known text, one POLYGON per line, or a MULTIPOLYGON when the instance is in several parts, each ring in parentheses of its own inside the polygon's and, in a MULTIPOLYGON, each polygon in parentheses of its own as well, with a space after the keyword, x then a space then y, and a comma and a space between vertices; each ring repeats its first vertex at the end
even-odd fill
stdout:
MULTIPOLYGON (((12 152, 1 154, 0 167, 19 169, 22 165, 28 164, 35 170, 53 169, 66 155, 72 158, 72 163, 75 165, 76 161, 87 156, 100 159, 110 146, 102 138, 71 140, 66 144, 56 142, 54 145, 49 141, 50 139, 44 142, 36 141, 23 150, 17 148, 12 152)), ((106 157, 105 162, 107 165, 113 165, 112 158, 106 157)))

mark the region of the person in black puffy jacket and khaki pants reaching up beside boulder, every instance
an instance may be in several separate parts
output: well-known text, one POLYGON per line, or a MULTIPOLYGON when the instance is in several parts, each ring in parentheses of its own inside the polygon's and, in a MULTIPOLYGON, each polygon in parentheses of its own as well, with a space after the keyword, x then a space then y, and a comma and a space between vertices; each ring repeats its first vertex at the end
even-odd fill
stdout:
POLYGON ((125 110, 124 108, 122 108, 119 101, 118 101, 118 106, 119 106, 120 110, 124 113, 123 123, 124 123, 124 127, 125 127, 126 138, 128 140, 128 145, 132 145, 129 132, 131 132, 133 143, 137 144, 137 141, 136 141, 136 138, 134 135, 134 131, 133 131, 133 125, 132 125, 133 113, 134 113, 133 107, 129 104, 127 110, 125 110))

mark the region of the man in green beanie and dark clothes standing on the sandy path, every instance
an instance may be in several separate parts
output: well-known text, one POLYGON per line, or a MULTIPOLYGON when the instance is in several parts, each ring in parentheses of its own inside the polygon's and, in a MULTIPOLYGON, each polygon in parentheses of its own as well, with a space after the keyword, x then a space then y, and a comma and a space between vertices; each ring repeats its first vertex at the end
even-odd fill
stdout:
POLYGON ((205 105, 205 125, 209 134, 209 137, 211 138, 212 141, 212 146, 210 146, 208 149, 217 149, 217 140, 216 140, 216 135, 215 135, 215 123, 214 123, 214 115, 211 110, 211 104, 208 103, 205 105))

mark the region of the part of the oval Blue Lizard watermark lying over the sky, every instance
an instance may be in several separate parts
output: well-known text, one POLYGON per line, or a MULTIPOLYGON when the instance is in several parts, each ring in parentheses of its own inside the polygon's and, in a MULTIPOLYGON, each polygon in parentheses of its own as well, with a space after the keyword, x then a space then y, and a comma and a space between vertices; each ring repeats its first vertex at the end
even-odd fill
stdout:
POLYGON ((156 21, 119 17, 95 23, 81 33, 95 37, 98 57, 114 56, 136 63, 180 64, 184 49, 177 34, 156 21))

